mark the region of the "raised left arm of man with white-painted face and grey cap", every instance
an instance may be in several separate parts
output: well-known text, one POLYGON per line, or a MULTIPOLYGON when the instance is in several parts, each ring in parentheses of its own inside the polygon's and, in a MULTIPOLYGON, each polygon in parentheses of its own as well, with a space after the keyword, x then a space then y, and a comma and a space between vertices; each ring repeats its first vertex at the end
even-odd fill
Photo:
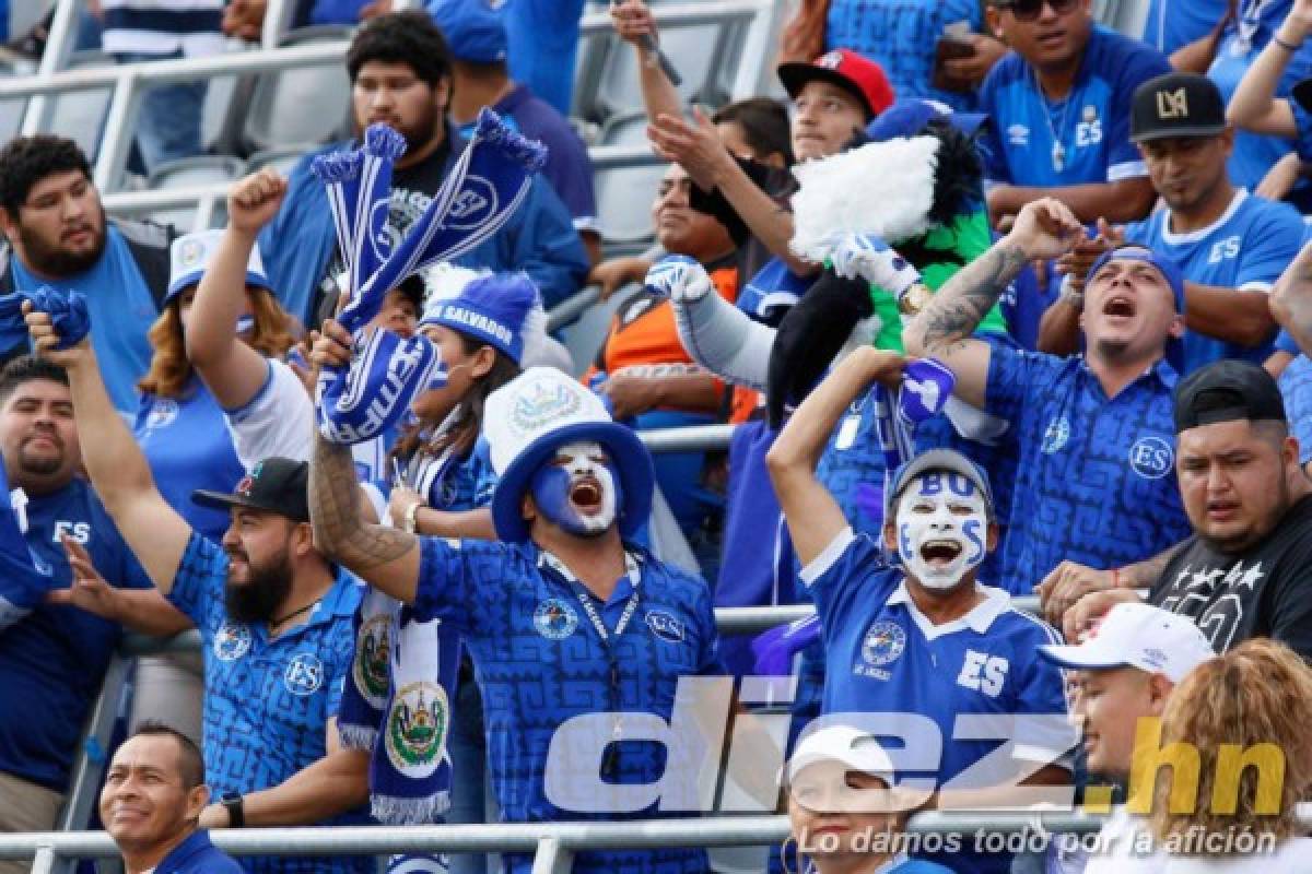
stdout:
POLYGON ((845 358, 794 411, 765 465, 802 566, 810 565, 848 527, 842 508, 816 480, 816 464, 848 405, 874 381, 896 385, 903 358, 862 347, 845 358))

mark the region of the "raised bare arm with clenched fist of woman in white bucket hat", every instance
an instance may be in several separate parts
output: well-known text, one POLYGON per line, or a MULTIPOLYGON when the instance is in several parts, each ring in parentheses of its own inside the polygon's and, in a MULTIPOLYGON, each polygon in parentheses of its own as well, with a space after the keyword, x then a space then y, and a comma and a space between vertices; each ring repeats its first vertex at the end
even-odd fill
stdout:
POLYGON ((195 291, 186 356, 226 410, 245 406, 264 387, 269 364, 236 334, 245 300, 247 262, 260 229, 282 206, 287 182, 272 169, 245 177, 228 193, 228 229, 195 291))

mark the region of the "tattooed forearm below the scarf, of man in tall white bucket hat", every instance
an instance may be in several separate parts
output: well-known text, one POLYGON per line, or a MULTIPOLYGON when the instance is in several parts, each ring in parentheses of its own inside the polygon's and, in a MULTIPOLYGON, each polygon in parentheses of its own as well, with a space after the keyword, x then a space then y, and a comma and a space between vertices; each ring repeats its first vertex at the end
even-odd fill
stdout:
POLYGON ((359 518, 359 484, 350 449, 318 432, 310 465, 310 519, 319 549, 358 574, 395 561, 419 544, 415 535, 359 518))

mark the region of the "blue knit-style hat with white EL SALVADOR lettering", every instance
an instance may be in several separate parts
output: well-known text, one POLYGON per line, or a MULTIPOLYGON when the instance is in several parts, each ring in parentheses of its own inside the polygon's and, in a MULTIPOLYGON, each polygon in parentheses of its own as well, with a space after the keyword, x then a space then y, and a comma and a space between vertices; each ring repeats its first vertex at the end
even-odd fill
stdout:
POLYGON ((537 304, 538 287, 525 274, 489 274, 470 280, 455 297, 430 300, 419 324, 468 334, 518 364, 523 356, 523 321, 537 304))

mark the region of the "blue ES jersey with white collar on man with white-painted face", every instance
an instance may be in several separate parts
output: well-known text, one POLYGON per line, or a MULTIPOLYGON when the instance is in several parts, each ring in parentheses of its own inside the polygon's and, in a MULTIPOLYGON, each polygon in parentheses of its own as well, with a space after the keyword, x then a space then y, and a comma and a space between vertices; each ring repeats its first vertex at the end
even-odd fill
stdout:
MULTIPOLYGON (((1077 736, 1065 719, 1061 672, 1038 655, 1039 646, 1060 637, 1014 609, 1005 592, 981 586, 985 599, 970 613, 934 625, 912 601, 903 574, 884 562, 879 544, 850 528, 803 569, 802 579, 824 628, 824 713, 878 714, 878 725, 904 744, 890 750, 899 782, 928 780, 951 789, 954 777, 1005 743, 968 739, 970 731, 958 729, 960 717, 993 717, 1000 729, 1008 717, 1046 717, 1017 722, 998 736, 1010 743, 1012 760, 1064 764, 1077 736), (941 755, 933 757, 914 752, 929 747, 926 719, 942 739, 941 755)), ((959 788, 983 789, 1005 778, 992 773, 997 782, 976 773, 962 776, 959 788)), ((1010 854, 963 850, 926 858, 959 874, 1010 871, 1010 854)))

